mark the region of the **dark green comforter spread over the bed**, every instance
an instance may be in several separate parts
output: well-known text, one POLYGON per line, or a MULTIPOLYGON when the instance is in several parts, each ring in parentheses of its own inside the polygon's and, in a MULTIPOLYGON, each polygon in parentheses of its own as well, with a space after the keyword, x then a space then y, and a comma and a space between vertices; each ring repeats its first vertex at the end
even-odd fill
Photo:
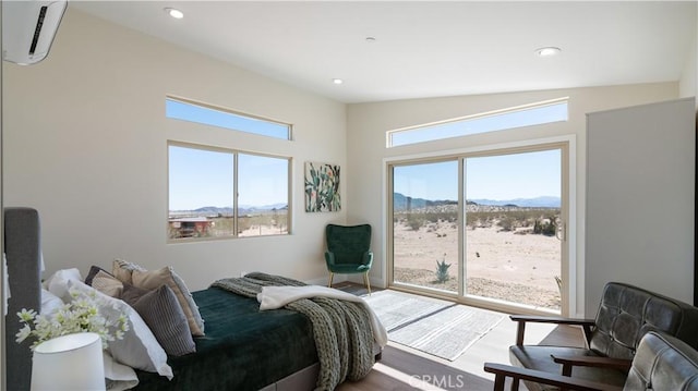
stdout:
POLYGON ((260 311, 219 288, 193 292, 206 322, 196 353, 169 357, 174 378, 137 371, 136 390, 258 390, 317 362, 313 330, 297 311, 260 311))

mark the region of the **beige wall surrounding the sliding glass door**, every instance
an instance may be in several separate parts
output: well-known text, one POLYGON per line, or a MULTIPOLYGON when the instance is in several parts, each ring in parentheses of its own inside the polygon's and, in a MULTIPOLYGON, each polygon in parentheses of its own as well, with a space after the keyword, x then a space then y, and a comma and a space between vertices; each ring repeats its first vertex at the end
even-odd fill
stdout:
MULTIPOLYGON (((486 96, 460 96, 375 103, 350 105, 347 109, 348 161, 351 168, 347 191, 350 208, 347 218, 351 221, 366 221, 377 231, 374 239, 385 232, 385 186, 384 160, 399 156, 435 154, 440 150, 484 148, 504 143, 525 142, 535 138, 551 138, 574 135, 576 139, 576 182, 571 185, 576 197, 577 227, 583 227, 585 219, 585 167, 586 167, 586 113, 622 108, 640 103, 674 99, 678 96, 678 83, 659 83, 615 87, 543 90, 486 96), (385 132, 388 130, 430 123, 496 109, 569 97, 569 121, 520 130, 493 132, 469 137, 452 138, 421 145, 398 148, 385 147, 385 132)), ((583 230, 577 230, 576 274, 583 273, 583 230)), ((374 283, 385 283, 385 246, 376 243, 375 267, 371 272, 374 283)), ((579 280, 581 282, 581 280, 579 280)), ((574 303, 577 313, 583 310, 583 284, 577 286, 574 303)))

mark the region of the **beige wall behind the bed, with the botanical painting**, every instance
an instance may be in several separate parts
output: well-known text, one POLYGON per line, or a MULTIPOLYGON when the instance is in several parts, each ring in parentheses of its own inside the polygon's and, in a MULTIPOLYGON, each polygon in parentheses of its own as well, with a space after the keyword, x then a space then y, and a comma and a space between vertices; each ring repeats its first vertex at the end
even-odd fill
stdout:
POLYGON ((39 210, 47 273, 122 257, 192 289, 252 270, 325 281, 324 227, 350 204, 304 212, 303 163, 346 167, 344 105, 70 8, 44 62, 3 65, 3 200, 39 210), (167 120, 169 94, 292 123, 294 140, 167 120), (293 234, 167 244, 168 139, 291 156, 293 234))

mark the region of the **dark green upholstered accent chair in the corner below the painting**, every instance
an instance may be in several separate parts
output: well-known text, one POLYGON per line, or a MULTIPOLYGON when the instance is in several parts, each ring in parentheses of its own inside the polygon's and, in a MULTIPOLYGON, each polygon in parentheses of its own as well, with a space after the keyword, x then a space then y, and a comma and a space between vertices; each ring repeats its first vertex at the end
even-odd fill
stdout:
POLYGON ((325 262, 327 262, 327 270, 329 270, 328 286, 332 288, 332 279, 335 273, 363 273, 363 281, 369 294, 371 294, 371 283, 369 282, 369 271, 373 265, 371 225, 327 224, 325 239, 327 241, 325 262))

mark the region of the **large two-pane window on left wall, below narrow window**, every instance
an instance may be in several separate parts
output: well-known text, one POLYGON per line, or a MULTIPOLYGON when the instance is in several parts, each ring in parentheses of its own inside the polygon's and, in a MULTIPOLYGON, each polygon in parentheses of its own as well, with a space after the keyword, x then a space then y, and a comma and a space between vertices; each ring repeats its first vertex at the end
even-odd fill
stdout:
POLYGON ((170 241, 289 233, 290 158, 171 142, 168 159, 170 241))

